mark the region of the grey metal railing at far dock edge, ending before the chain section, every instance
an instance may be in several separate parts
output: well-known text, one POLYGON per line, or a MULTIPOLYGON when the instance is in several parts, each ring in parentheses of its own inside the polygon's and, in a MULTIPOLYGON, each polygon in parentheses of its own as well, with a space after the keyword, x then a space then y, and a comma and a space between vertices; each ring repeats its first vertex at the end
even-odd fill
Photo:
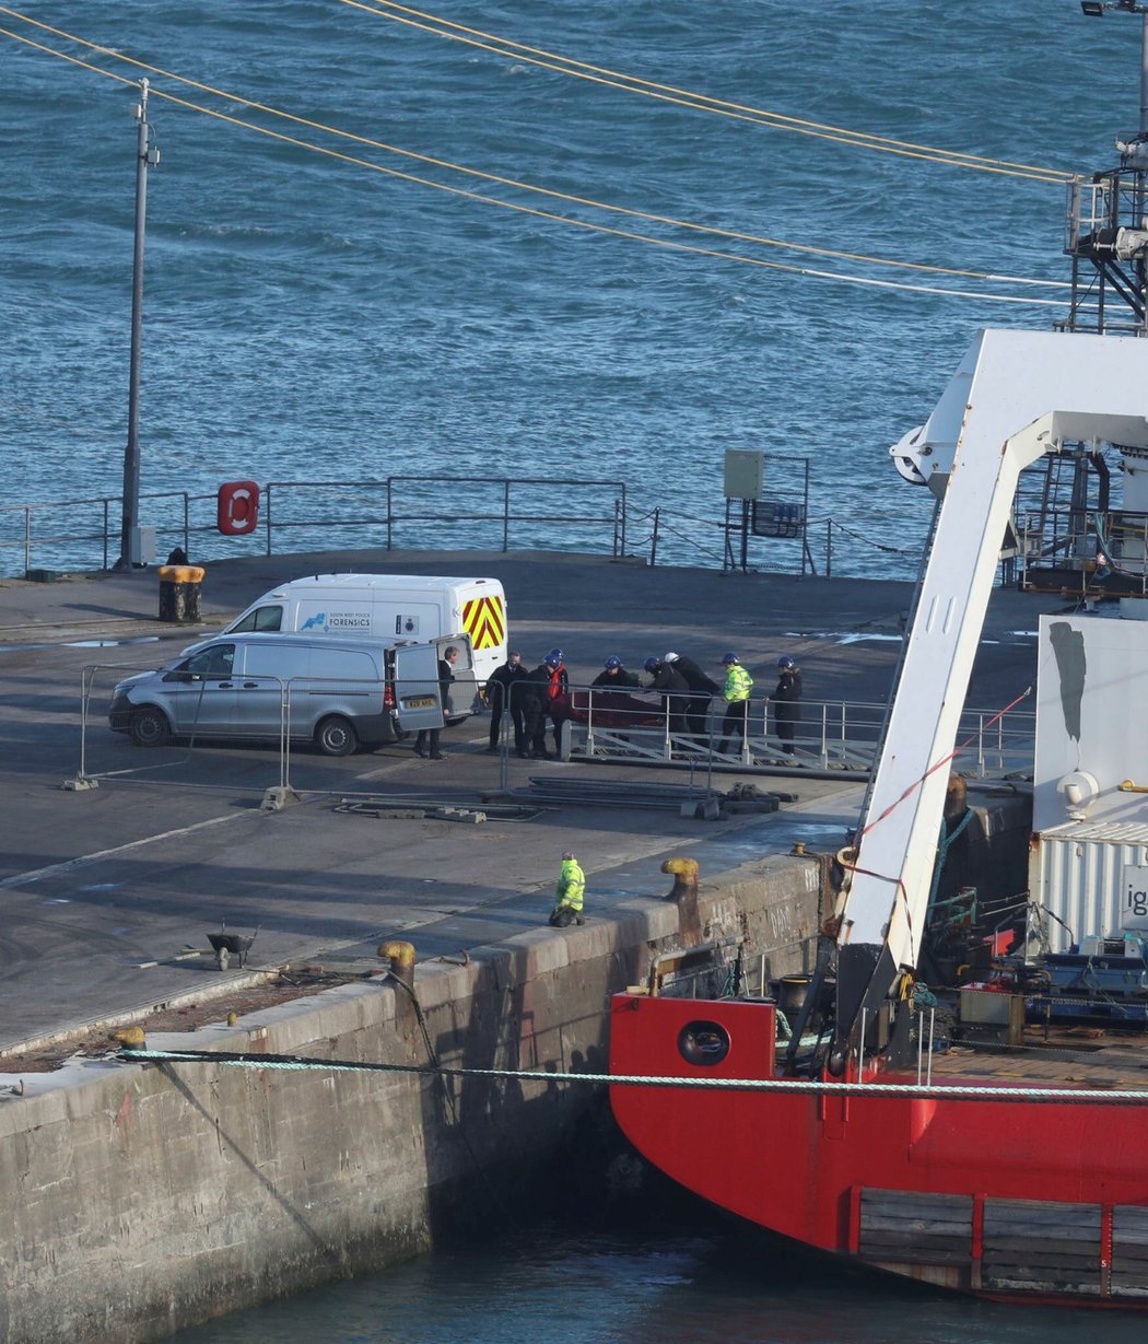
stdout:
MULTIPOLYGON (((155 559, 175 547, 196 559, 274 555, 278 550, 434 547, 445 550, 582 550, 616 559, 626 550, 626 487, 621 481, 542 477, 388 476, 379 481, 269 481, 259 524, 222 536, 216 496, 188 492, 140 497, 155 535, 155 559), (555 542, 555 538, 558 540, 555 542)), ((110 569, 120 558, 118 496, 0 505, 0 566, 36 570, 110 569)))

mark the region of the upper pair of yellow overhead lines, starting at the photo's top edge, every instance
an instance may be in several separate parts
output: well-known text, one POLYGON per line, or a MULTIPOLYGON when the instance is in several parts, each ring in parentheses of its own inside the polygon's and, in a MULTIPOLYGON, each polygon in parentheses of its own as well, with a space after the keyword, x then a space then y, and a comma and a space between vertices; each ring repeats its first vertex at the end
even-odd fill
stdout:
POLYGON ((764 108, 753 108, 746 103, 730 102, 725 98, 712 98, 708 94, 694 93, 690 89, 679 89, 673 85, 657 83, 639 75, 624 74, 604 66, 590 65, 585 60, 575 60, 540 47, 531 47, 526 43, 514 42, 496 34, 484 32, 481 28, 470 28, 466 24, 454 23, 440 15, 426 13, 422 9, 413 9, 410 5, 398 4, 397 0, 339 0, 340 4, 354 9, 363 9, 368 13, 378 13, 383 19, 394 23, 403 23, 430 32, 452 42, 461 42, 483 51, 492 51, 496 55, 514 56, 528 65, 554 70, 559 74, 573 75, 577 79, 589 79, 594 83, 622 89, 626 93, 641 94, 648 98, 659 98, 680 106, 695 108, 699 112, 711 112, 718 116, 734 117, 739 121, 753 121, 758 125, 774 126, 780 130, 792 130, 800 134, 816 136, 823 140, 832 140, 837 144, 854 145, 860 149, 874 149, 882 153, 902 155, 910 159, 926 159, 933 163, 953 164, 960 168, 972 168, 979 172, 1004 173, 1007 176, 1027 177, 1032 181, 1061 184, 1071 180, 1073 173, 1059 168, 1040 168, 1032 164, 1012 163, 1007 159, 991 159, 983 155, 971 155, 956 149, 941 149, 936 145, 918 145, 907 140, 894 140, 890 136, 875 136, 864 130, 850 130, 844 126, 831 126, 823 122, 808 121, 801 117, 790 117, 785 113, 769 112, 764 108), (405 16, 413 17, 405 17, 405 16), (422 22, 425 20, 425 22, 422 22), (450 30, 450 31, 446 31, 450 30), (481 39, 481 40, 480 40, 481 39))

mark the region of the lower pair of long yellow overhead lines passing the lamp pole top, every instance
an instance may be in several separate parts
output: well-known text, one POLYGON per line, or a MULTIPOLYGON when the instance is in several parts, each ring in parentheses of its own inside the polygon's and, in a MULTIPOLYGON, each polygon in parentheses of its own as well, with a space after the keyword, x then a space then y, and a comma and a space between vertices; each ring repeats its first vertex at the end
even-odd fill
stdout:
MULTIPOLYGON (((480 169, 475 169, 475 168, 468 168, 468 167, 461 165, 461 164, 453 164, 449 160, 436 159, 436 157, 432 157, 432 156, 427 156, 427 155, 419 155, 419 153, 415 153, 414 151, 407 151, 407 149, 402 149, 402 148, 395 146, 395 145, 388 145, 384 141, 372 140, 370 137, 356 134, 355 132, 341 130, 340 128, 336 128, 336 126, 328 126, 328 125, 325 125, 323 122, 316 122, 316 121, 312 121, 309 118, 300 117, 300 116, 297 116, 294 113, 288 113, 288 112, 284 112, 281 109, 272 108, 272 106, 269 106, 266 103, 255 102, 254 99, 245 98, 245 97, 242 97, 239 94, 234 94, 234 93, 230 93, 230 91, 223 90, 223 89, 216 89, 212 85, 206 85, 206 83, 202 83, 200 81, 191 79, 191 78, 188 78, 186 75, 179 75, 179 74, 175 74, 173 71, 164 70, 160 66, 153 66, 153 65, 149 65, 148 62, 142 62, 142 60, 138 60, 138 59, 136 59, 133 56, 124 55, 122 52, 116 51, 114 48, 110 48, 110 47, 101 46, 99 43, 89 42, 89 40, 86 40, 83 38, 79 38, 79 36, 77 36, 74 34, 70 34, 70 32, 67 32, 65 30, 55 28, 55 27, 52 27, 50 24, 46 24, 46 23, 42 23, 40 20, 36 20, 36 19, 31 19, 30 16, 23 15, 19 11, 12 9, 12 8, 7 7, 7 5, 0 5, 0 13, 9 15, 11 17, 15 17, 15 19, 23 22, 23 23, 30 24, 31 27, 35 27, 35 28, 39 28, 42 31, 50 32, 50 34, 52 34, 56 38, 62 38, 62 39, 65 39, 67 42, 74 42, 74 43, 77 43, 78 46, 81 46, 81 47, 83 47, 86 50, 95 51, 95 52, 98 52, 98 54, 101 54, 104 56, 108 56, 108 58, 124 62, 125 65, 129 65, 133 69, 145 70, 149 74, 156 74, 156 75, 161 75, 164 78, 173 79, 177 83, 186 85, 188 87, 199 89, 199 90, 202 90, 204 93, 210 93, 210 94, 212 94, 215 97, 219 97, 219 98, 226 98, 226 99, 229 99, 231 102, 238 102, 242 106, 247 106, 247 108, 251 108, 254 110, 268 113, 269 116, 280 117, 280 118, 290 121, 290 122, 293 122, 296 125, 308 126, 308 128, 315 129, 315 130, 329 133, 329 134, 336 136, 339 138, 351 140, 351 141, 358 142, 358 144, 364 144, 364 145, 367 145, 370 148, 382 149, 382 151, 384 151, 387 153, 399 155, 402 157, 407 157, 407 159, 413 159, 413 160, 417 160, 417 161, 421 161, 421 163, 426 163, 426 164, 433 165, 433 167, 446 168, 449 171, 460 172, 460 173, 464 173, 464 175, 468 175, 468 176, 472 176, 472 177, 479 177, 481 180, 496 183, 496 184, 500 184, 500 185, 507 185, 507 187, 514 187, 514 188, 519 188, 519 190, 523 190, 523 191, 534 192, 534 194, 543 195, 543 196, 550 198, 550 199, 558 199, 558 200, 565 200, 565 202, 571 203, 571 204, 579 204, 579 206, 586 206, 586 207, 596 208, 596 210, 604 210, 604 211, 608 211, 608 212, 612 212, 612 214, 618 214, 618 215, 628 216, 628 218, 641 219, 641 220, 645 220, 648 223, 663 223, 663 224, 667 224, 669 227, 678 227, 678 228, 684 228, 684 230, 690 230, 690 231, 695 231, 695 233, 703 233, 703 234, 712 235, 712 237, 719 237, 719 238, 729 238, 729 239, 731 239, 734 242, 747 242, 747 243, 754 243, 754 245, 758 245, 758 246, 781 247, 781 249, 788 249, 788 250, 793 250, 793 251, 809 253, 809 254, 813 254, 813 255, 831 257, 831 258, 835 258, 835 259, 859 261, 859 262, 870 263, 870 265, 895 266, 895 267, 899 267, 899 269, 917 270, 917 271, 925 271, 925 273, 932 273, 932 274, 953 276, 953 277, 957 277, 957 278, 984 280, 984 281, 989 281, 989 282, 1034 285, 1034 286, 1044 286, 1044 288, 1062 288, 1063 286, 1063 282, 1061 282, 1061 281, 1043 281, 1043 280, 1032 280, 1032 278, 1027 278, 1027 277, 992 276, 992 274, 987 274, 987 273, 981 273, 981 271, 973 271, 973 270, 960 270, 960 269, 956 269, 956 267, 932 266, 932 265, 926 265, 926 263, 921 263, 921 262, 906 262, 906 261, 879 258, 879 257, 866 257, 866 255, 858 254, 858 253, 844 253, 844 251, 835 251, 835 250, 831 250, 831 249, 817 249, 817 247, 812 247, 809 245, 790 243, 790 242, 785 242, 785 241, 781 241, 781 239, 772 239, 772 238, 758 237, 758 235, 754 235, 754 234, 745 234, 745 233, 739 233, 739 231, 734 231, 734 230, 723 230, 723 228, 718 228, 716 226, 696 224, 696 223, 692 223, 690 220, 675 219, 673 216, 656 215, 656 214, 651 214, 651 212, 647 212, 647 211, 630 210, 628 207, 614 206, 614 204, 609 204, 609 203, 605 203, 605 202, 597 202, 597 200, 591 200, 589 198, 574 196, 571 194, 558 192, 558 191, 552 191, 550 188, 535 187, 535 185, 531 185, 530 183, 522 183, 522 181, 518 181, 515 179, 503 177, 503 176, 493 175, 493 173, 485 173, 485 172, 481 172, 480 169)), ((129 78, 126 75, 117 74, 117 73, 110 71, 110 70, 105 70, 102 66, 97 66, 97 65, 94 65, 94 63, 91 63, 89 60, 81 59, 79 56, 74 56, 74 55, 70 55, 67 52, 59 51, 55 47, 50 47, 50 46, 42 43, 42 42, 36 42, 32 38, 28 38, 24 34, 13 32, 9 28, 0 28, 0 35, 11 38, 15 42, 23 43, 23 44, 26 44, 26 46, 28 46, 28 47, 31 47, 31 48, 34 48, 36 51, 40 51, 40 52, 43 52, 46 55, 56 56, 58 59, 62 59, 62 60, 66 60, 66 62, 69 62, 71 65, 79 66, 81 69, 89 70, 89 71, 91 71, 94 74, 104 75, 105 78, 113 79, 113 81, 116 81, 118 83, 122 83, 122 85, 126 85, 126 86, 132 86, 132 87, 134 87, 137 85, 136 79, 132 79, 132 78, 129 78)), ((785 271, 785 273, 789 273, 789 274, 798 274, 798 276, 804 276, 804 277, 808 277, 808 278, 839 281, 842 284, 858 284, 858 285, 868 285, 868 286, 879 288, 879 289, 894 289, 894 290, 907 290, 907 292, 915 292, 915 293, 930 293, 930 294, 937 294, 937 296, 941 296, 941 297, 976 298, 976 300, 981 300, 981 301, 987 301, 987 302, 1020 304, 1020 305, 1026 305, 1026 306, 1031 306, 1031 305, 1055 306, 1055 308, 1069 306, 1067 301, 1065 301, 1065 300, 1030 298, 1030 297, 1022 297, 1022 296, 1014 296, 1014 294, 991 294, 991 293, 980 293, 980 292, 964 290, 964 289, 942 289, 942 288, 938 288, 938 286, 913 285, 913 284, 899 282, 899 281, 885 281, 885 280, 875 280, 875 278, 871 278, 871 277, 850 276, 850 274, 843 274, 843 273, 839 273, 839 271, 817 270, 817 269, 807 267, 807 266, 797 266, 797 265, 789 265, 789 263, 785 263, 785 262, 768 261, 768 259, 761 258, 761 257, 746 257, 746 255, 743 255, 741 253, 730 253, 730 251, 722 251, 722 250, 718 250, 718 249, 699 247, 699 246, 694 246, 691 243, 684 243, 684 242, 679 242, 679 241, 669 239, 669 238, 657 238, 657 237, 653 237, 651 234, 636 233, 633 230, 614 228, 614 227, 610 227, 610 226, 606 226, 606 224, 593 223, 593 222, 586 220, 586 219, 578 219, 578 218, 573 218, 570 215, 562 215, 562 214, 557 214, 554 211, 540 210, 538 207, 526 206, 526 204, 520 204, 520 203, 516 203, 516 202, 508 202, 508 200, 504 200, 504 199, 497 198, 497 196, 488 196, 488 195, 485 195, 483 192, 469 191, 469 190, 462 188, 462 187, 453 187, 453 185, 450 185, 448 183, 434 181, 433 179, 422 177, 422 176, 418 176, 415 173, 407 173, 407 172, 403 172, 403 171, 397 169, 397 168, 387 168, 383 164, 374 163, 372 160, 360 159, 360 157, 358 157, 355 155, 345 155, 345 153, 343 153, 340 151, 331 149, 331 148, 328 148, 325 145, 317 145, 313 141, 301 140, 301 138, 298 138, 296 136, 288 136, 288 134, 285 134, 282 132, 273 130, 273 129, 270 129, 268 126, 261 126, 261 125, 258 125, 255 122, 245 121, 241 117, 234 117, 234 116, 231 116, 229 113, 219 112, 218 109, 207 108, 207 106, 204 106, 202 103, 191 102, 190 99, 180 98, 180 97, 177 97, 177 95, 175 95, 172 93, 168 93, 168 91, 165 91, 163 89, 159 89, 159 87, 155 87, 155 86, 152 86, 151 93, 152 93, 153 97, 165 99, 165 101, 168 101, 171 103, 175 103, 176 106, 186 108, 186 109, 188 109, 191 112, 198 112, 198 113, 200 113, 203 116, 218 118, 218 120, 220 120, 223 122, 227 122, 230 125, 235 125, 235 126, 239 126, 239 128, 243 128, 243 129, 247 129, 247 130, 253 130, 257 134, 268 136, 268 137, 270 137, 273 140, 277 140, 277 141, 284 142, 284 144, 293 145, 296 148, 309 149, 309 151, 313 151, 316 153, 321 153, 321 155, 325 155, 328 157, 332 157, 332 159, 341 160, 344 163, 352 164, 355 167, 367 168, 367 169, 383 173, 383 175, 390 176, 390 177, 397 177, 397 179, 403 180, 403 181, 414 183, 417 185, 430 187, 430 188, 437 190, 437 191, 445 191, 445 192, 448 192, 450 195, 462 196, 465 199, 475 200, 475 202, 479 202, 479 203, 483 203, 483 204, 496 206, 496 207, 500 207, 500 208, 504 208, 504 210, 514 210, 514 211, 518 211, 520 214, 526 214, 526 215, 530 215, 530 216, 534 216, 534 218, 539 218, 539 219, 546 219, 546 220, 555 222, 555 223, 565 223, 565 224, 569 224, 571 227, 582 228, 582 230, 590 231, 590 233, 606 234, 606 235, 610 235, 610 237, 624 238, 624 239, 634 241, 634 242, 645 242, 645 243, 651 243, 651 245, 660 246, 660 247, 668 247, 668 249, 675 250, 675 251, 684 251, 684 253, 690 253, 690 254, 695 254, 695 255, 712 257, 715 259, 722 259, 722 261, 735 261, 735 262, 741 262, 743 265, 753 265, 753 266, 760 266, 760 267, 765 267, 765 269, 770 269, 770 270, 781 270, 781 271, 785 271)))

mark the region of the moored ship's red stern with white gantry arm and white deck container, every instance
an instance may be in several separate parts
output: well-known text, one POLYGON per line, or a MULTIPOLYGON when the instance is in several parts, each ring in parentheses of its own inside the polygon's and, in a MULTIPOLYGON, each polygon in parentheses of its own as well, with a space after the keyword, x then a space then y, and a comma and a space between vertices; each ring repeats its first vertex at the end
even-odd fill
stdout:
POLYGON ((1077 935, 1117 937, 1129 890, 1144 906, 1135 870, 1148 879, 1148 809, 1129 762, 1148 759, 1148 743, 1129 707, 1148 624, 1042 626, 1038 739, 1040 716, 1057 731, 1043 753, 1038 742, 1034 809, 1051 839, 1049 855, 1032 847, 1038 913, 1015 992, 1000 973, 967 986, 975 1030, 946 1050, 933 1048, 941 1034, 917 993, 946 763, 1016 478, 1044 453, 1094 441, 1148 448, 1148 341, 980 333, 929 422, 893 450, 942 505, 792 1040, 778 1044, 769 1001, 620 995, 610 1097, 655 1165, 786 1236, 988 1296, 1129 1305, 1148 1302, 1145 1038, 1051 1013, 1026 1023, 1024 1004, 1062 997, 1038 953, 1090 948, 1102 961, 1077 935), (1120 751, 1093 754, 1096 732, 1120 751))

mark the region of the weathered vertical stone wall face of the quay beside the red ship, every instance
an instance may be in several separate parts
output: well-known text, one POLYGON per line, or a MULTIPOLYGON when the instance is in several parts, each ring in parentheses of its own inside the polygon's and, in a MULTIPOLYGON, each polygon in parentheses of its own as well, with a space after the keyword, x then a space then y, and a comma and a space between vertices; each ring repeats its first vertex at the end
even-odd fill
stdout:
POLYGON ((606 1071, 610 995, 706 945, 715 978, 738 945, 754 973, 808 969, 824 868, 762 859, 582 927, 473 948, 461 965, 418 965, 413 992, 375 977, 148 1038, 426 1073, 108 1059, 26 1075, 23 1095, 0 1099, 0 1337, 159 1340, 430 1250, 468 1206, 497 1218, 500 1191, 544 1171, 601 1105, 604 1085, 562 1079, 606 1071))

